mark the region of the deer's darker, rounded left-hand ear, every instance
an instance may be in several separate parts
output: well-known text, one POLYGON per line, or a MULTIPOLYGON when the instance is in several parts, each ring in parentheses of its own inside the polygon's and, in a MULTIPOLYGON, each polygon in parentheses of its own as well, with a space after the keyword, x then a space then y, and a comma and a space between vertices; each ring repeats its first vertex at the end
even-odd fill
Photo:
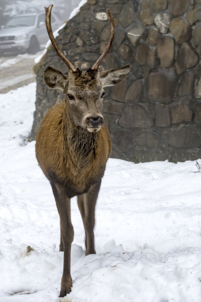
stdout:
POLYGON ((59 70, 48 66, 44 71, 44 80, 47 86, 54 89, 64 90, 67 84, 67 76, 63 75, 59 70))

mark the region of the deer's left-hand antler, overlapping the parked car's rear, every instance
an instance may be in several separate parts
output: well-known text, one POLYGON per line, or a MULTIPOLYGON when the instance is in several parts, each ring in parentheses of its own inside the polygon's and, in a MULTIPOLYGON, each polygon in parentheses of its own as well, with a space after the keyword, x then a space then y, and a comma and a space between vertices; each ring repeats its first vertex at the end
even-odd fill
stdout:
POLYGON ((67 57, 65 57, 63 52, 59 49, 57 42, 53 36, 52 27, 51 27, 52 7, 53 7, 53 4, 51 4, 49 7, 45 7, 45 24, 46 24, 46 28, 47 28, 47 33, 49 35, 49 38, 50 38, 52 45, 54 46, 54 49, 56 50, 56 53, 58 54, 58 56, 64 61, 64 63, 67 65, 67 67, 72 72, 75 72, 76 71, 75 67, 72 65, 72 63, 70 63, 70 61, 67 59, 67 57))

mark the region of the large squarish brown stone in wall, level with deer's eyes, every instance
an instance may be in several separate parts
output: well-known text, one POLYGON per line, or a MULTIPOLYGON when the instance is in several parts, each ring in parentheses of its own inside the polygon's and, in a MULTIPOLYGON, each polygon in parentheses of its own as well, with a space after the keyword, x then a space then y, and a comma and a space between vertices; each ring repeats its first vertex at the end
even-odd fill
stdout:
POLYGON ((173 97, 176 77, 172 70, 161 70, 148 76, 148 98, 169 103, 173 97))

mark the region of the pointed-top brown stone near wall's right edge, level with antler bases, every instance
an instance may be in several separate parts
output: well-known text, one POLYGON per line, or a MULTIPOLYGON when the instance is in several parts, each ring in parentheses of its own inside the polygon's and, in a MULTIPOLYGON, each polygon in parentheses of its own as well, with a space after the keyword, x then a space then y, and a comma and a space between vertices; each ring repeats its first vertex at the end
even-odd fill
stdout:
POLYGON ((198 55, 191 49, 187 43, 183 43, 178 49, 175 68, 178 75, 187 69, 194 67, 198 63, 198 55))

